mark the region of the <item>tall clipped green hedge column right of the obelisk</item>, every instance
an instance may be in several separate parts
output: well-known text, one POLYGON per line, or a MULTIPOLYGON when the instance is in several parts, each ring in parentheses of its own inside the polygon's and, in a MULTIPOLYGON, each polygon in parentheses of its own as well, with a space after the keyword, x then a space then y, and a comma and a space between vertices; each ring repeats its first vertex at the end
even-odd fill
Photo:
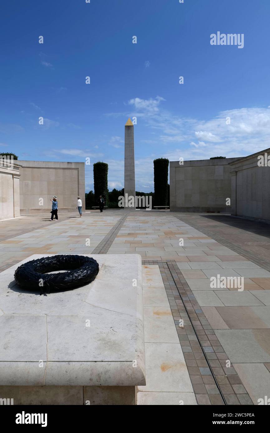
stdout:
POLYGON ((168 204, 168 172, 169 159, 154 159, 155 206, 167 206, 168 204))

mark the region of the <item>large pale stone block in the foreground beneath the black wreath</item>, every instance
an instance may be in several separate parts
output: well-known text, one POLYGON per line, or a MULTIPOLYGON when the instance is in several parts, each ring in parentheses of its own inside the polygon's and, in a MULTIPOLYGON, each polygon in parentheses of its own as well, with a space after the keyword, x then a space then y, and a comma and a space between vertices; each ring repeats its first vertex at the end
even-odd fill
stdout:
POLYGON ((16 268, 44 256, 0 274, 0 398, 135 404, 135 386, 146 384, 141 256, 90 254, 98 276, 70 291, 17 286, 16 268))

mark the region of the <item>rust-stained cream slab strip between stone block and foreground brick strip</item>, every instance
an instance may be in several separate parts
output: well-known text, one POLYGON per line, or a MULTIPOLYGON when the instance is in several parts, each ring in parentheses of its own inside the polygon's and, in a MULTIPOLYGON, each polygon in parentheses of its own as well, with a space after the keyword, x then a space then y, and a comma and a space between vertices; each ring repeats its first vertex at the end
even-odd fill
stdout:
MULTIPOLYGON (((164 394, 164 391, 184 391, 185 404, 196 404, 195 395, 193 393, 192 385, 190 382, 187 367, 184 361, 184 355, 176 332, 176 327, 172 317, 172 312, 169 306, 168 298, 166 295, 165 287, 155 289, 152 288, 151 283, 153 280, 162 282, 158 265, 143 265, 143 297, 144 297, 144 311, 145 321, 149 317, 149 334, 153 334, 156 343, 146 343, 146 357, 148 363, 146 366, 146 386, 137 387, 137 404, 165 404, 164 397, 159 394, 164 394), (161 280, 160 280, 161 279, 161 280), (147 307, 147 301, 153 300, 154 292, 159 291, 155 298, 159 300, 160 304, 166 303, 163 307, 147 307), (163 297, 161 298, 161 292, 163 297), (150 294, 150 295, 149 295, 150 294), (151 295, 153 294, 153 297, 151 295), (159 328, 162 323, 163 330, 160 332, 159 328), (152 326, 152 329, 150 329, 152 326), (171 339, 175 343, 163 343, 171 339), (154 361, 152 362, 152 358, 154 361), (171 383, 173 385, 171 386, 171 383), (152 391, 152 392, 148 392, 152 391), (151 396, 143 397, 143 394, 151 394, 151 396), (189 395, 187 395, 189 394, 189 395)), ((145 323, 145 341, 147 341, 147 330, 145 323)), ((169 393, 174 394, 174 393, 169 393)), ((173 396, 172 396, 173 398, 173 396)), ((181 399, 179 399, 181 400, 181 399)), ((179 401, 178 401, 179 404, 179 401)))

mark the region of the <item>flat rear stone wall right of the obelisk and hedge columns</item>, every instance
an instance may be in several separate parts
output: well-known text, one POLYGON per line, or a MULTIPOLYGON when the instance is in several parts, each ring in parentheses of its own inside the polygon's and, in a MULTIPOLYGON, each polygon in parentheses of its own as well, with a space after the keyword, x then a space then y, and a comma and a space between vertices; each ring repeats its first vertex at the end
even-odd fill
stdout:
POLYGON ((231 212, 231 167, 239 158, 170 162, 170 210, 178 212, 231 212))

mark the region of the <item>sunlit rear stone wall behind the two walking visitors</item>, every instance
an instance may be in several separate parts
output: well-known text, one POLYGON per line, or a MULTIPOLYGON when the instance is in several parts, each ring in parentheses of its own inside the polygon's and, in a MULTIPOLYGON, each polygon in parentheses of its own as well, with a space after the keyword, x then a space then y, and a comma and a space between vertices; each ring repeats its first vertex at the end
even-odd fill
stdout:
POLYGON ((84 162, 18 161, 20 168, 20 212, 48 213, 50 199, 58 199, 59 212, 76 212, 77 197, 85 210, 84 162), (43 199, 43 205, 40 205, 43 199))

